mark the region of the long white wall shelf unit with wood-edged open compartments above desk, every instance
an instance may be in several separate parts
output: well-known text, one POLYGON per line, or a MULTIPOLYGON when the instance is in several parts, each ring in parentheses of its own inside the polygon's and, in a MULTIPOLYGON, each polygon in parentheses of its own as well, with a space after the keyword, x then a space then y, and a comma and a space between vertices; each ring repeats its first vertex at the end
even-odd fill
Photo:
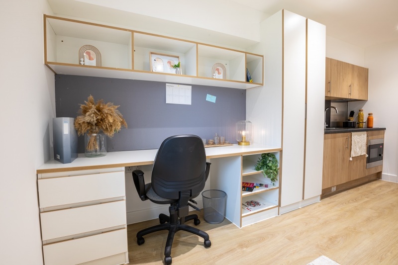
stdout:
POLYGON ((248 89, 263 86, 262 55, 189 40, 44 15, 44 61, 55 74, 248 89), (82 65, 79 49, 96 47, 101 66, 82 65), (179 57, 182 74, 152 72, 150 52, 179 57), (222 64, 225 79, 214 79, 222 64), (246 68, 253 83, 246 82, 246 68))

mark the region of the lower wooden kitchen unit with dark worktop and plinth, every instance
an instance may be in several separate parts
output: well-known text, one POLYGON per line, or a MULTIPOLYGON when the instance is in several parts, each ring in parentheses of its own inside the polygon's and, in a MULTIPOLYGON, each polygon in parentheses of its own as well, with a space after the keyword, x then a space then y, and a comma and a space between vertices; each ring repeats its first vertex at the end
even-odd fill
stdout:
MULTIPOLYGON (((351 156, 351 132, 366 131, 369 140, 384 139, 386 128, 325 129, 323 146, 322 198, 381 178, 383 165, 367 168, 365 155, 351 156)), ((368 146, 367 146, 368 147, 368 146)), ((367 148, 368 149, 368 148, 367 148)))

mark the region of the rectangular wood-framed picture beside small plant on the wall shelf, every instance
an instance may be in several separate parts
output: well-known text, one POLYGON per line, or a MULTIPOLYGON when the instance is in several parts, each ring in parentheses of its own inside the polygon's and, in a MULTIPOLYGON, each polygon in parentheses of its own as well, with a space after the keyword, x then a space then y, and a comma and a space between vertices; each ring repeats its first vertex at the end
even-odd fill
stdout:
POLYGON ((149 62, 151 72, 161 72, 176 75, 183 74, 181 71, 180 56, 150 52, 149 62), (178 65, 179 63, 180 67, 173 67, 174 65, 178 65))

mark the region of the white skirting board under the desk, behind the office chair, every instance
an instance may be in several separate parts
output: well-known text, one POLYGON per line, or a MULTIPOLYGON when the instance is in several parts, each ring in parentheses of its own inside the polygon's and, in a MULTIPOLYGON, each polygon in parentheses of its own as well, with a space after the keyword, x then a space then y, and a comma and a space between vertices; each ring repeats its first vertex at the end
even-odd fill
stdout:
MULTIPOLYGON (((195 198, 195 201, 198 202, 196 205, 199 209, 203 208, 203 199, 202 198, 195 198)), ((127 224, 135 224, 143 221, 153 220, 159 218, 159 214, 164 213, 169 215, 169 206, 170 205, 161 205, 161 204, 154 204, 155 207, 147 208, 144 210, 137 210, 137 211, 130 211, 127 212, 127 224), (159 206, 158 206, 159 205, 159 206)), ((190 211, 194 211, 192 214, 195 213, 195 209, 190 207, 190 211)))

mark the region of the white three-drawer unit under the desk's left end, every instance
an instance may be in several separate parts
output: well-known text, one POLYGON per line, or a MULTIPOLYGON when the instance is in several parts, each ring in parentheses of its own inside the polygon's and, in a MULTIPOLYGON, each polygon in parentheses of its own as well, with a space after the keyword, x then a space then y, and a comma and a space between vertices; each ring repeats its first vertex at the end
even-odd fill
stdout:
POLYGON ((45 265, 128 263, 123 168, 38 178, 45 265))

